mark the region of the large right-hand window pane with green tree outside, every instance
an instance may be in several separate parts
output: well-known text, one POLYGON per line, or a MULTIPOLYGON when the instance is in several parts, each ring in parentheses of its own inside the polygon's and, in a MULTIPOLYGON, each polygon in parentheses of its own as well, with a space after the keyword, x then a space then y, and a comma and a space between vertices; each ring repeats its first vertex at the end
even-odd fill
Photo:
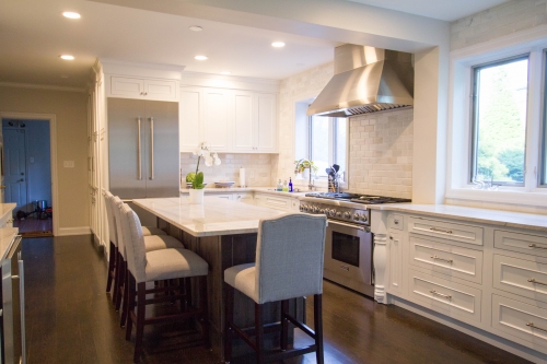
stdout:
POLYGON ((470 181, 524 185, 528 56, 473 68, 470 181))

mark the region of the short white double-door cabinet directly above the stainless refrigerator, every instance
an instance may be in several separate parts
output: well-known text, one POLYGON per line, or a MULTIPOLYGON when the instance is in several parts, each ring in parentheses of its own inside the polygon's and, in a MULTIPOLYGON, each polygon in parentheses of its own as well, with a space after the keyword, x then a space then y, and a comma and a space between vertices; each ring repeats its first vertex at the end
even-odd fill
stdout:
POLYGON ((178 101, 176 80, 154 80, 112 75, 108 97, 178 101))

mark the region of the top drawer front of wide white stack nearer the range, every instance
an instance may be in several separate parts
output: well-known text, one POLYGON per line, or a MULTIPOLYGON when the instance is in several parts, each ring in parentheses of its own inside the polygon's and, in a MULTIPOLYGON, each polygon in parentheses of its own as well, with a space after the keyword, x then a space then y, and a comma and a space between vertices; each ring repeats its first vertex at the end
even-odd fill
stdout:
POLYGON ((482 245, 482 227, 456 224, 453 222, 438 221, 421 218, 409 218, 408 231, 410 233, 438 236, 450 240, 482 245))

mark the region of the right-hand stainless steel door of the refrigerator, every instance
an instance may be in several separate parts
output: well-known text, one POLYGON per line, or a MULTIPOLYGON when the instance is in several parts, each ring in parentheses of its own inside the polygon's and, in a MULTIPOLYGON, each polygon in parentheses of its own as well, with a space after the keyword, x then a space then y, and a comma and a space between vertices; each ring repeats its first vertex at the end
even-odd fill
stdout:
POLYGON ((147 197, 178 197, 178 104, 147 101, 147 197))

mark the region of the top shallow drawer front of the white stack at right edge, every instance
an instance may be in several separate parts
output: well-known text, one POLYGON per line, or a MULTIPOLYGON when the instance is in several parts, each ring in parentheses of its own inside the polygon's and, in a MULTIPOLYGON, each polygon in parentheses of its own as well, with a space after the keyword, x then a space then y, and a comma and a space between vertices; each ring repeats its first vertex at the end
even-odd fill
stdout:
POLYGON ((547 237, 496 230, 493 246, 500 249, 547 257, 547 237))

